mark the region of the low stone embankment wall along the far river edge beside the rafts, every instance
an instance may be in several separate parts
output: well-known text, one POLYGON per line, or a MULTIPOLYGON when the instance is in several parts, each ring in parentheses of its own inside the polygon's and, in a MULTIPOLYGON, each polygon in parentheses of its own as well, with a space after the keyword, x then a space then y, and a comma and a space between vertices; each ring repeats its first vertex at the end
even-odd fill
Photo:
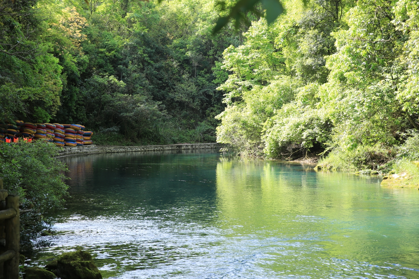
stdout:
POLYGON ((222 148, 225 144, 222 143, 183 143, 183 144, 168 144, 168 145, 147 145, 147 146, 74 146, 61 147, 58 151, 58 158, 96 154, 96 153, 119 153, 119 152, 138 152, 138 151, 163 151, 163 150, 186 150, 186 149, 211 149, 222 148))

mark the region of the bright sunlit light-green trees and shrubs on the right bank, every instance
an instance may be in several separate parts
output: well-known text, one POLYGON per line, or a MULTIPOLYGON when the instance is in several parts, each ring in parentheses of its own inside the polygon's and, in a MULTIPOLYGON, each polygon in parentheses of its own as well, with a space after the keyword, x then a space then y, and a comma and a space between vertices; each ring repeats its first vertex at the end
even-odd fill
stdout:
POLYGON ((285 10, 225 49, 218 141, 256 156, 320 155, 319 169, 385 172, 419 159, 418 2, 290 1, 285 10))

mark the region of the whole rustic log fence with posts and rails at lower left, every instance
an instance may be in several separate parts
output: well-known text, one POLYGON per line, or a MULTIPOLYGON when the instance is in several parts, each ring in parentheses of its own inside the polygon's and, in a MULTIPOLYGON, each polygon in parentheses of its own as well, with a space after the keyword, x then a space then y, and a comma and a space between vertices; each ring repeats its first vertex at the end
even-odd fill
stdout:
POLYGON ((7 194, 0 177, 0 279, 19 278, 19 196, 7 194))

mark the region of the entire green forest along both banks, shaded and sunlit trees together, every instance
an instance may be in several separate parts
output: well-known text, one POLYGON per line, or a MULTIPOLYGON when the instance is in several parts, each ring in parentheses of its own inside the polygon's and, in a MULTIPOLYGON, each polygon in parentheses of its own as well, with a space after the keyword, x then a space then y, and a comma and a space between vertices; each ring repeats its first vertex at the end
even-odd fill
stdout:
POLYGON ((0 117, 326 168, 419 159, 417 1, 284 1, 271 24, 255 2, 214 33, 234 3, 3 0, 0 117))

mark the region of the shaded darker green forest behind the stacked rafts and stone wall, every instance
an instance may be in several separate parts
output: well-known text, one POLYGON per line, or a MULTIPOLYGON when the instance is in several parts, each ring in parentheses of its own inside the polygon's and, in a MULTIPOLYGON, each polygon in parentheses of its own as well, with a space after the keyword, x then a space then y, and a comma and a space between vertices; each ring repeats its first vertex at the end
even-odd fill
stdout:
POLYGON ((212 35, 220 13, 210 1, 4 0, 0 117, 83 123, 96 143, 213 142, 214 69, 244 38, 212 35))

